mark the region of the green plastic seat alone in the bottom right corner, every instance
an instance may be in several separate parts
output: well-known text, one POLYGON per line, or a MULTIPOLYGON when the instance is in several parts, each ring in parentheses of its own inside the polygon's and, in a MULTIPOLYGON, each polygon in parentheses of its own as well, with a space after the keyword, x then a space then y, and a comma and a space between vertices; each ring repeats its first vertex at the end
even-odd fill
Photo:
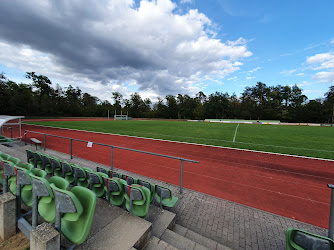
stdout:
POLYGON ((333 250, 334 241, 300 229, 288 228, 285 232, 287 250, 321 249, 333 250))

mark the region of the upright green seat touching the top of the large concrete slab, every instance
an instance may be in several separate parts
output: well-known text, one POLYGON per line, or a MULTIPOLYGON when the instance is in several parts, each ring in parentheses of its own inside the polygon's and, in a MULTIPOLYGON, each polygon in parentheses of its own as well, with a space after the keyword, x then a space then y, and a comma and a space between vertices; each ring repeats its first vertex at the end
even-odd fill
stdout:
POLYGON ((124 185, 125 207, 131 213, 139 217, 146 217, 151 203, 151 192, 141 185, 124 185))

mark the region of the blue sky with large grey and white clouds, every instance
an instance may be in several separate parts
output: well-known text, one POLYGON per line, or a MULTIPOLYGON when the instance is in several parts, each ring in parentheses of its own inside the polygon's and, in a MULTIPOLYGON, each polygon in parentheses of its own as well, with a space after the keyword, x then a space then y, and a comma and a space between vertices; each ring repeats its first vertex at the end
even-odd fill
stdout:
POLYGON ((309 99, 334 85, 334 1, 1 0, 0 72, 119 91, 237 95, 261 81, 309 99))

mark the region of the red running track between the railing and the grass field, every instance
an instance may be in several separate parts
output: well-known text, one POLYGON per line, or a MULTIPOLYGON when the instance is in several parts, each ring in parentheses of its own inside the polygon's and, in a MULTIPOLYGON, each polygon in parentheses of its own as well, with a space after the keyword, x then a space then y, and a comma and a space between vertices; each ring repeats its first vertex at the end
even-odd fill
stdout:
MULTIPOLYGON (((197 160, 184 164, 184 187, 328 228, 333 161, 34 125, 23 129, 197 160)), ((43 141, 42 135, 30 137, 43 141)), ((46 146, 70 153, 69 140, 47 136, 46 146)), ((74 141, 73 155, 110 165, 110 148, 96 144, 87 148, 74 141)), ((114 166, 180 185, 179 160, 114 149, 114 166)))

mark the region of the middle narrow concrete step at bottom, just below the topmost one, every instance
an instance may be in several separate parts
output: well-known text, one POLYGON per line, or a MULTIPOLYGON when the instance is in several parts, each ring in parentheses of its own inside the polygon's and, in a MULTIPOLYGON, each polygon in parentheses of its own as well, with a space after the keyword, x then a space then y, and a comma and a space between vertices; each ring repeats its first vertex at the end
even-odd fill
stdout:
POLYGON ((172 245, 173 247, 181 250, 206 250, 208 248, 202 246, 199 243, 196 243, 178 233, 175 233, 174 231, 171 231, 169 229, 166 229, 163 235, 161 236, 161 239, 168 244, 172 245))

